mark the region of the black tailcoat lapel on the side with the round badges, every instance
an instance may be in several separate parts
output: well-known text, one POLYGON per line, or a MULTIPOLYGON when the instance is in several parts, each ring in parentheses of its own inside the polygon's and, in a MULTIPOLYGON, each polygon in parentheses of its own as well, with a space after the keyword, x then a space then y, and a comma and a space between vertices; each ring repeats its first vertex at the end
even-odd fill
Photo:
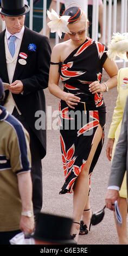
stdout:
POLYGON ((14 77, 12 79, 12 82, 14 82, 15 80, 18 80, 20 78, 22 71, 25 69, 25 65, 21 65, 18 62, 18 60, 21 59, 21 57, 19 56, 20 52, 26 53, 28 55, 26 61, 27 62, 29 61, 30 51, 28 50, 28 46, 29 46, 30 42, 31 42, 31 33, 30 33, 29 29, 27 27, 25 27, 20 51, 18 52, 18 58, 17 58, 16 68, 15 68, 14 77))

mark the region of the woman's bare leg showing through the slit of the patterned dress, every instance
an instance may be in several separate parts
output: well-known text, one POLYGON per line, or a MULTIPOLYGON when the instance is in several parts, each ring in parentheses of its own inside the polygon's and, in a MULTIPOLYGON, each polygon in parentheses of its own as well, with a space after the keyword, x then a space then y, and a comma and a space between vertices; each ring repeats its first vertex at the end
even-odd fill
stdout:
MULTIPOLYGON (((88 159, 81 170, 78 178, 75 181, 74 185, 74 197, 73 197, 73 220, 75 222, 80 222, 83 211, 87 205, 89 204, 88 192, 89 192, 89 168, 91 166, 93 156, 98 147, 98 144, 103 135, 103 129, 99 125, 94 138, 91 151, 89 153, 88 159)), ((72 234, 76 234, 75 240, 78 239, 80 225, 74 223, 72 227, 72 234)))

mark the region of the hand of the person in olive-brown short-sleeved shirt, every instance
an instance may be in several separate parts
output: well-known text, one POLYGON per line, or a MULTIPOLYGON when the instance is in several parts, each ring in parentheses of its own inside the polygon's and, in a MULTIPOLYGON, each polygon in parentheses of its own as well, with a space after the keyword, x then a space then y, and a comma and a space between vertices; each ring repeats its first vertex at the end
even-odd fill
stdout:
POLYGON ((34 216, 27 217, 21 215, 20 220, 20 229, 27 234, 31 234, 34 231, 35 225, 34 225, 34 216))

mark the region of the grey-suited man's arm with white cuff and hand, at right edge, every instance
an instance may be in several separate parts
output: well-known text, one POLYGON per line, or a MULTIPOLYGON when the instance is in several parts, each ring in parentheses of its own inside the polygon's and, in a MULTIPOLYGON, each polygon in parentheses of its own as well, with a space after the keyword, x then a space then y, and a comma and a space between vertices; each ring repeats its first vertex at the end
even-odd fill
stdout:
POLYGON ((126 171, 127 192, 128 192, 128 97, 126 100, 123 120, 121 124, 120 136, 114 153, 110 178, 108 181, 108 190, 105 201, 106 207, 114 210, 114 202, 119 199, 119 190, 123 182, 126 171))

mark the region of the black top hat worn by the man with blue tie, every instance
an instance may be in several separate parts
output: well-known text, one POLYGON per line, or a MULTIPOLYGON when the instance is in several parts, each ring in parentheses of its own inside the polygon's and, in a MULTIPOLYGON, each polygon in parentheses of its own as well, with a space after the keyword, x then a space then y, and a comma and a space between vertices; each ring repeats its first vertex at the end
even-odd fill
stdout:
POLYGON ((24 0, 1 0, 0 14, 17 17, 28 13, 29 9, 24 0))

